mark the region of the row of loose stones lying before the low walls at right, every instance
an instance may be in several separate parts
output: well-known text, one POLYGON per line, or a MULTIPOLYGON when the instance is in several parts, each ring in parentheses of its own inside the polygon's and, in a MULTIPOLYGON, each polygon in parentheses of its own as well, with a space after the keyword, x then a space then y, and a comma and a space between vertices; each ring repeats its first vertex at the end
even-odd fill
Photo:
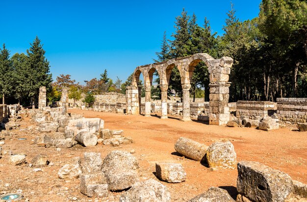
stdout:
POLYGON ((270 131, 279 128, 279 119, 277 114, 274 113, 271 116, 254 116, 252 119, 249 116, 240 116, 240 118, 231 117, 231 120, 227 123, 228 127, 254 127, 263 131, 270 131))

